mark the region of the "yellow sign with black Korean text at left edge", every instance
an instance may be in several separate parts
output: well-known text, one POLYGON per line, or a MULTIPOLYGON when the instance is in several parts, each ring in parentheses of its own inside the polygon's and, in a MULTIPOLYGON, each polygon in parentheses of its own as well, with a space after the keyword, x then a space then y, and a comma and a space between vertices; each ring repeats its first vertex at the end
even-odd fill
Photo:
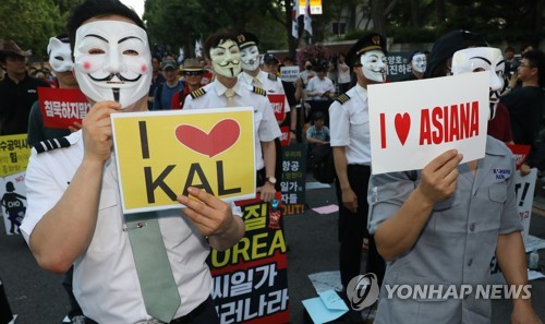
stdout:
POLYGON ((0 136, 0 177, 25 171, 31 149, 26 134, 0 136))

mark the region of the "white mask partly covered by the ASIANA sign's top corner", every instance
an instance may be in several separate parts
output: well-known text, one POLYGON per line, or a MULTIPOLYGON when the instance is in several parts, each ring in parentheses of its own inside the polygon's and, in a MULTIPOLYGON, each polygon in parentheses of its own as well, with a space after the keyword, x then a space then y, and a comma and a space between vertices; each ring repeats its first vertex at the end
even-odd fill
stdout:
POLYGON ((452 57, 452 74, 489 71, 491 115, 496 115, 501 88, 504 88, 505 59, 499 48, 473 47, 459 50, 452 57))

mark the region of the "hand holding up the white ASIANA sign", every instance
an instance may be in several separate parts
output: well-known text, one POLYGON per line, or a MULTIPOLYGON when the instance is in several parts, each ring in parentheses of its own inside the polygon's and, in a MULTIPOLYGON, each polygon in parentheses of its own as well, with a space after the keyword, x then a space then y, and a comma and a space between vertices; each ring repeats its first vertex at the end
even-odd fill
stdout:
POLYGON ((420 191, 429 205, 443 202, 455 194, 458 182, 458 165, 462 155, 450 149, 434 158, 423 170, 420 191))

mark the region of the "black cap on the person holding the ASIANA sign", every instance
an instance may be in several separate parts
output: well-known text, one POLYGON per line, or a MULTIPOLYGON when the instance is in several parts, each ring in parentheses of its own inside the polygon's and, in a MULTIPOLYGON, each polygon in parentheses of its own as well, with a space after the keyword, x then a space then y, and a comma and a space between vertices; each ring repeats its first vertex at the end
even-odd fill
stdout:
POLYGON ((487 47, 483 36, 468 31, 452 31, 439 37, 432 48, 424 77, 443 76, 439 71, 455 52, 468 47, 487 47), (438 74, 439 73, 439 74, 438 74))

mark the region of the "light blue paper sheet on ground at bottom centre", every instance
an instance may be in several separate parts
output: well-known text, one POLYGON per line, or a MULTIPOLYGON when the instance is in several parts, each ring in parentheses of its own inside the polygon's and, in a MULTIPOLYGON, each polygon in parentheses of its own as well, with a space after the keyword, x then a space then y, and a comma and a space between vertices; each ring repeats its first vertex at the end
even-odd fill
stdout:
POLYGON ((319 297, 303 300, 303 305, 314 323, 331 322, 348 312, 347 304, 335 290, 329 289, 318 295, 319 297))

